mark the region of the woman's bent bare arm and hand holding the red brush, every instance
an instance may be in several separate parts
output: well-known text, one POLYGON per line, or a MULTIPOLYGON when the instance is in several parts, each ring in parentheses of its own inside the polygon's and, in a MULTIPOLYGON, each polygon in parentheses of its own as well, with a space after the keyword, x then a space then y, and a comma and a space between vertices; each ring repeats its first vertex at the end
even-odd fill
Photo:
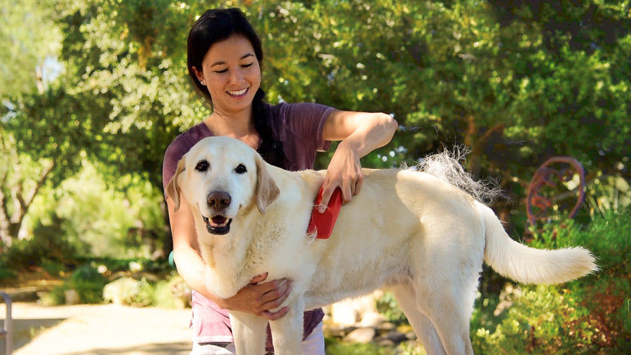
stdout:
POLYGON ((336 187, 341 188, 344 203, 360 192, 364 181, 360 158, 388 144, 397 127, 392 116, 380 112, 336 110, 327 117, 323 139, 341 142, 327 168, 320 213, 324 212, 336 187))

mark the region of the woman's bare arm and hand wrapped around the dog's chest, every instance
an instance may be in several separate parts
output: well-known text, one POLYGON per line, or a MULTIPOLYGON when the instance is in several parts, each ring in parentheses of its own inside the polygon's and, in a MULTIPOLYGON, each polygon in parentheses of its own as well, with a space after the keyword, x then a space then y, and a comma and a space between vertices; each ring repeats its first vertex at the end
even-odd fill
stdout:
POLYGON ((270 321, 287 314, 287 307, 276 312, 291 290, 290 281, 279 279, 263 283, 267 274, 255 276, 251 283, 230 298, 219 298, 212 294, 205 282, 205 269, 208 267, 198 252, 197 235, 189 203, 181 196, 179 209, 167 198, 171 234, 173 236, 173 257, 177 272, 186 283, 204 297, 215 302, 222 309, 240 311, 263 316, 270 321))

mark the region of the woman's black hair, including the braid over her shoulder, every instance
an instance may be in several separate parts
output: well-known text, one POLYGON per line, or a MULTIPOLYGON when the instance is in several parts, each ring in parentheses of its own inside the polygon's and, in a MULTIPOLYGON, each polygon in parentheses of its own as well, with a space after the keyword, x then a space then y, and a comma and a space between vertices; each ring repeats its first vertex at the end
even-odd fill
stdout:
MULTIPOLYGON (((189 76, 197 91, 208 100, 211 106, 212 98, 208 88, 203 86, 197 79, 193 72, 193 67, 201 68, 204 56, 208 53, 210 46, 216 42, 228 39, 233 34, 241 34, 252 43, 257 60, 262 65, 263 49, 261 40, 252 28, 252 25, 250 25, 250 22, 247 22, 243 12, 238 8, 213 8, 208 10, 201 15, 189 32, 186 44, 186 66, 189 68, 189 76)), ((280 168, 289 168, 287 157, 283 150, 283 143, 273 135, 264 98, 265 92, 262 88, 259 88, 252 100, 252 119, 255 123, 255 129, 261 138, 258 152, 268 163, 280 168)))

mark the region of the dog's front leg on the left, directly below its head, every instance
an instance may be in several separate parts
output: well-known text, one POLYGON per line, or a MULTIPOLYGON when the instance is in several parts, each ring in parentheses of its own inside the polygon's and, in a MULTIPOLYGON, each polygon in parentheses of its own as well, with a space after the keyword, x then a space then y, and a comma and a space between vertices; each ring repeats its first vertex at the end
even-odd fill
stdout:
POLYGON ((236 353, 265 354, 267 319, 244 312, 229 312, 236 353))

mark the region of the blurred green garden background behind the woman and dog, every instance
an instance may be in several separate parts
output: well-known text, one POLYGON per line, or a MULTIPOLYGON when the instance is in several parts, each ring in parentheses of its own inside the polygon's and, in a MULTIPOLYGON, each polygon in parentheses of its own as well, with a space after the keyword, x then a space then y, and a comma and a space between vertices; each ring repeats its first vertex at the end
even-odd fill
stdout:
MULTIPOLYGON (((562 286, 485 270, 476 353, 631 352, 627 0, 0 0, 0 290, 186 307, 162 159, 210 113, 186 74, 188 30, 229 6, 262 39, 268 102, 392 114, 398 132, 365 167, 466 147, 463 165, 505 192, 489 203, 511 236, 597 255, 598 274, 562 286)), ((387 293, 376 305, 405 326, 387 293)))

